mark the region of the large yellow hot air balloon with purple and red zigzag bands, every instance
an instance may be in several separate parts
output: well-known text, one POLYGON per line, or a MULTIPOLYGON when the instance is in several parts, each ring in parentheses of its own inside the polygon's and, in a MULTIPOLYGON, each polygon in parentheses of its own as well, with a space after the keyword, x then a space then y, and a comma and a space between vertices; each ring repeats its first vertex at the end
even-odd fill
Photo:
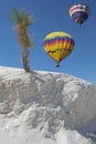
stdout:
POLYGON ((62 31, 51 32, 44 38, 44 50, 56 62, 56 66, 72 53, 74 44, 73 38, 62 31))

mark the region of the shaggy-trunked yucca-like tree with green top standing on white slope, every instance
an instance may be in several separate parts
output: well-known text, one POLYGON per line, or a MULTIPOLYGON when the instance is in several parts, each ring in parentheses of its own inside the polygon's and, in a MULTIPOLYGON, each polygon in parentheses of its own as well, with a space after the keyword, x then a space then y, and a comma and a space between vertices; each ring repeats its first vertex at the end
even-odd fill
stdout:
POLYGON ((28 28, 34 23, 34 18, 31 17, 26 10, 18 11, 15 8, 13 8, 12 12, 10 13, 10 19, 17 24, 19 43, 22 47, 23 69, 25 72, 30 72, 29 54, 30 48, 33 47, 33 42, 30 40, 28 28))

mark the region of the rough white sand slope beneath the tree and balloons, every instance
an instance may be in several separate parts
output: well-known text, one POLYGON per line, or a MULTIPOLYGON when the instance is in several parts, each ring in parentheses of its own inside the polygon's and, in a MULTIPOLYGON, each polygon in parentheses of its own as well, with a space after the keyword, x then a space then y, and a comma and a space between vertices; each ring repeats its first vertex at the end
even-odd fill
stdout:
POLYGON ((0 144, 94 144, 95 117, 92 83, 0 66, 0 144))

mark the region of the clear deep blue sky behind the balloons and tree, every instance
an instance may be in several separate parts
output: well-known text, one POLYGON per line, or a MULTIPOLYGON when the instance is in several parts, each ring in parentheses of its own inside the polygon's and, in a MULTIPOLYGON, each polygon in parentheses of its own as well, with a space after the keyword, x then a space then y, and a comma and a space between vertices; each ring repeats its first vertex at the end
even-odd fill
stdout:
POLYGON ((0 65, 22 68, 22 49, 13 29, 15 24, 9 19, 13 7, 26 9, 36 19, 29 29, 35 40, 30 53, 31 70, 68 73, 96 85, 96 0, 0 0, 0 65), (68 16, 70 8, 78 2, 90 8, 82 28, 68 16), (75 41, 74 51, 60 68, 55 68, 43 47, 45 35, 53 31, 67 32, 75 41))

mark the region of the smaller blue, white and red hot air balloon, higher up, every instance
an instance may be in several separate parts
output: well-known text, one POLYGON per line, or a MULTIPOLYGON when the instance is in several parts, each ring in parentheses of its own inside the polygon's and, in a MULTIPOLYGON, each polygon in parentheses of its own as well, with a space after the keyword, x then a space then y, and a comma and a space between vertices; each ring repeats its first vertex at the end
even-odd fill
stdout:
POLYGON ((79 25, 79 28, 88 19, 89 13, 89 7, 84 3, 76 3, 70 9, 71 18, 73 18, 73 20, 79 25))

